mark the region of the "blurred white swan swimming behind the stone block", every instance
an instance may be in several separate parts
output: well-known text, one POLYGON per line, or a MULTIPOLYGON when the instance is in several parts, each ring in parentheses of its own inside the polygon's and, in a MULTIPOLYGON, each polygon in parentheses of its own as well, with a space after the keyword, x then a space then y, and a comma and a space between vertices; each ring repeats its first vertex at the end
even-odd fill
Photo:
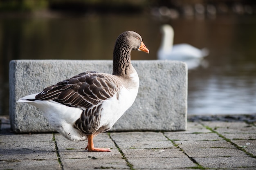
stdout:
POLYGON ((164 24, 161 26, 162 42, 157 51, 159 60, 179 60, 188 64, 188 68, 200 65, 203 57, 209 55, 208 49, 198 49, 190 44, 173 45, 174 31, 172 26, 164 24))

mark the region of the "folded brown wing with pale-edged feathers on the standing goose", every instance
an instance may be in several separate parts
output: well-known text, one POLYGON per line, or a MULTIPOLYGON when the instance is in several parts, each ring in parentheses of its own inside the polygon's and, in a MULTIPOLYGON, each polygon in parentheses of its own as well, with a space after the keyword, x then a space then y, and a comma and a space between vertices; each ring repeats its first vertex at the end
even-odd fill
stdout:
POLYGON ((117 93, 121 83, 115 75, 87 72, 45 88, 36 99, 53 100, 70 107, 90 108, 117 93))

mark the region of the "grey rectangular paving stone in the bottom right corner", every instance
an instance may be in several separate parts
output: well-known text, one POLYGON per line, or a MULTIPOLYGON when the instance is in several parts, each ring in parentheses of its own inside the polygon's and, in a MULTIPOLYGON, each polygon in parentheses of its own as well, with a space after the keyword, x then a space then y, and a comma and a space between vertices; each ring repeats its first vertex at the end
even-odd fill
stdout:
POLYGON ((247 168, 256 167, 256 159, 252 157, 195 157, 205 168, 247 168))

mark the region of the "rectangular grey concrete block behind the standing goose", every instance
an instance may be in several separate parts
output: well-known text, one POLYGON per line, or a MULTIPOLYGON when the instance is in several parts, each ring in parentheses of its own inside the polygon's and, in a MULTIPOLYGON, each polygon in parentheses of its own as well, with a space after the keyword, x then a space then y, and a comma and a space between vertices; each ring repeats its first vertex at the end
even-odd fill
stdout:
MULTIPOLYGON (((186 64, 177 61, 135 60, 132 65, 139 75, 139 92, 135 103, 111 130, 186 130, 186 64)), ((16 101, 86 70, 112 73, 112 60, 11 61, 9 114, 13 131, 54 131, 39 109, 16 101)))

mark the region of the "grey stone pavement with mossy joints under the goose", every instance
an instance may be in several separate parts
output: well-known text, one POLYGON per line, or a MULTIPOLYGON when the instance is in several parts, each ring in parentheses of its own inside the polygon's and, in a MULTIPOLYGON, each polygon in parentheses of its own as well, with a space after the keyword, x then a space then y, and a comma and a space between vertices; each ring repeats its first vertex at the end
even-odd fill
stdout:
POLYGON ((94 146, 112 152, 87 152, 87 142, 58 133, 17 135, 0 118, 0 170, 256 169, 255 120, 189 118, 186 131, 108 132, 94 146))

